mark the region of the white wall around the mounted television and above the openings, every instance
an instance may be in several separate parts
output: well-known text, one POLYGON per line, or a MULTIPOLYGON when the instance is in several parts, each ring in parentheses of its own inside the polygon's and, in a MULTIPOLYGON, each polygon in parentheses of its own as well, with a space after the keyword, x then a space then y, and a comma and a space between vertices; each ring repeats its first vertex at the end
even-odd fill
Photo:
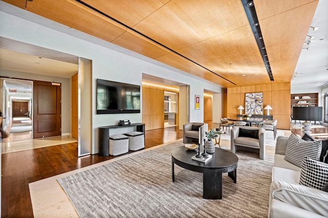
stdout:
MULTIPOLYGON (((97 115, 95 110, 95 87, 97 78, 141 86, 142 73, 144 73, 177 81, 182 84, 188 84, 190 85, 191 122, 203 122, 202 106, 204 89, 212 90, 217 93, 221 92, 221 87, 214 83, 206 82, 200 78, 189 77, 185 72, 180 73, 181 70, 173 69, 172 67, 166 68, 163 67, 165 65, 160 63, 154 64, 157 63, 156 61, 150 63, 146 60, 151 61, 151 59, 144 56, 140 56, 140 59, 136 58, 138 55, 135 53, 120 49, 118 46, 104 42, 103 40, 96 39, 84 33, 79 33, 81 36, 79 38, 69 35, 70 31, 73 32, 74 35, 77 35, 78 31, 71 30, 68 27, 31 14, 25 10, 13 8, 13 6, 3 2, 0 2, 0 10, 0 36, 92 60, 92 129, 94 136, 92 154, 98 153, 98 127, 116 125, 120 119, 130 119, 131 123, 140 123, 142 120, 141 113, 97 115), (8 11, 16 16, 8 14, 8 11), (24 17, 25 19, 20 17, 24 17), (44 26, 26 19, 37 20, 37 22, 42 22, 44 26), (46 26, 61 28, 61 32, 46 26), (85 40, 86 38, 90 40, 87 41, 85 40), (117 50, 126 51, 128 54, 133 54, 135 57, 118 52, 117 50), (200 110, 194 109, 194 98, 196 94, 200 95, 200 110)), ((83 108, 81 108, 81 110, 83 110, 83 108)))

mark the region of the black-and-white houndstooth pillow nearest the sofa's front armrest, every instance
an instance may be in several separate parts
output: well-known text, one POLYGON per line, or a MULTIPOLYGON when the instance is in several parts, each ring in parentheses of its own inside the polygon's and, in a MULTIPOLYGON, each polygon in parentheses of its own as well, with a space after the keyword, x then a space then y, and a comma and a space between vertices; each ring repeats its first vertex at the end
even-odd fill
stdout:
POLYGON ((328 182, 328 164, 305 157, 299 184, 321 189, 328 182))

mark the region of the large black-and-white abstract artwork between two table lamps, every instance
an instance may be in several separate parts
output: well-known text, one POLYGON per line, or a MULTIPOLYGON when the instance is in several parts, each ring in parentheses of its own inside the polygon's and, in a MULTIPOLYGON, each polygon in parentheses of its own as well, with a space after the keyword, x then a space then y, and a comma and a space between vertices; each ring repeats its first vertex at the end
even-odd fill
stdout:
POLYGON ((263 114, 263 92, 245 94, 245 114, 263 114))

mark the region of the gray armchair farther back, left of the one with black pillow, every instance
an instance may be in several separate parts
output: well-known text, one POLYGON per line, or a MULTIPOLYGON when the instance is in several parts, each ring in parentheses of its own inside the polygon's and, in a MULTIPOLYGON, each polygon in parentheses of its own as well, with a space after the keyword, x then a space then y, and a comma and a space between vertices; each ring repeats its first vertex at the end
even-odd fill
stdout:
POLYGON ((205 123, 188 123, 183 125, 183 143, 204 144, 205 132, 209 130, 205 123))

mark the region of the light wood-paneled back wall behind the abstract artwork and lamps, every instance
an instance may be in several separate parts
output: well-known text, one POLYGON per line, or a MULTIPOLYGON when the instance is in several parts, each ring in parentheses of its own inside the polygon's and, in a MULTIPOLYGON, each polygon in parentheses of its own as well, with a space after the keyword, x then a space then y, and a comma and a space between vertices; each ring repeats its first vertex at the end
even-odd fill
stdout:
MULTIPOLYGON (((253 86, 240 86, 228 88, 228 117, 239 114, 239 105, 245 107, 245 93, 263 92, 263 108, 270 105, 270 115, 278 120, 278 129, 290 129, 291 117, 291 83, 271 83, 253 86)), ((242 110, 244 113, 244 110, 242 110)), ((267 110, 263 109, 263 114, 267 110)))

